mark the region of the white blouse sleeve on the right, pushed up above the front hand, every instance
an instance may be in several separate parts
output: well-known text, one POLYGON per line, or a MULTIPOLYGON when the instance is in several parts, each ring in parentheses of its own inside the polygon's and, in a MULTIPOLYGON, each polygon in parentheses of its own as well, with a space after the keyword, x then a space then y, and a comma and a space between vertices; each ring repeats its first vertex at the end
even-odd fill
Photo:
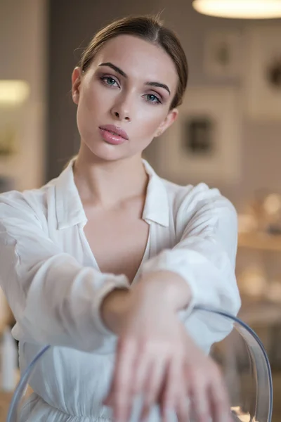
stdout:
MULTIPOLYGON (((178 243, 149 260, 143 271, 167 270, 180 275, 192 293, 183 320, 200 319, 201 338, 211 335, 211 343, 230 331, 229 322, 207 312, 192 313, 195 305, 205 305, 236 315, 240 294, 235 278, 237 214, 229 200, 206 185, 193 188, 183 198, 176 215, 178 243)), ((198 321, 197 321, 198 322, 198 321)), ((198 324, 195 324, 199 328, 198 324)), ((192 330, 192 328, 190 328, 192 330)))

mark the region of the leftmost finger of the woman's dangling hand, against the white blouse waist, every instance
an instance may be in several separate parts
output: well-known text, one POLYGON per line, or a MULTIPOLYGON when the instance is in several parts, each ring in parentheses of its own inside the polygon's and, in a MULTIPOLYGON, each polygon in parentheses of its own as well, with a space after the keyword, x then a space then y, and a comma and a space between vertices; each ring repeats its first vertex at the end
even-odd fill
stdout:
POLYGON ((117 360, 109 395, 116 422, 126 422, 129 419, 129 412, 132 407, 131 380, 136 353, 136 344, 130 341, 121 343, 117 350, 117 360))

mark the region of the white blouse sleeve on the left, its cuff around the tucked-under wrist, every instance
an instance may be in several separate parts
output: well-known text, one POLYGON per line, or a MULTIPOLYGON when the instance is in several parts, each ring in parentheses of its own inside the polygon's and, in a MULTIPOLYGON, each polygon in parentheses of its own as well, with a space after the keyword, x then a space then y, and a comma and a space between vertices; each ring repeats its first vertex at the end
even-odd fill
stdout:
POLYGON ((101 274, 64 253, 24 200, 0 196, 0 283, 26 341, 107 353, 116 336, 100 303, 126 276, 101 274))

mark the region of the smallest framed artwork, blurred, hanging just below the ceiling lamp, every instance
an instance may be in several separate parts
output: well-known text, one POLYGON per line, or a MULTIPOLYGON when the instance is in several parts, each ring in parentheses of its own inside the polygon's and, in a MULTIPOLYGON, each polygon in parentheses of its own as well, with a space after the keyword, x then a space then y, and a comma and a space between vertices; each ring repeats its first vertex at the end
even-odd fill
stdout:
POLYGON ((204 40, 203 68, 207 76, 237 78, 242 74, 242 34, 211 31, 204 40))

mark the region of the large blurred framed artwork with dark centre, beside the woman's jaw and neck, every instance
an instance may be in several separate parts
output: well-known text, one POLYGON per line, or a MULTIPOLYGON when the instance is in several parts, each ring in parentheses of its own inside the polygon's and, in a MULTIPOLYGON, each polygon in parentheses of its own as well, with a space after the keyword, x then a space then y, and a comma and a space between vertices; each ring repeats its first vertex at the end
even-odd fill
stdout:
POLYGON ((159 172, 178 183, 240 180, 240 95, 234 87, 191 87, 159 143, 159 172))

